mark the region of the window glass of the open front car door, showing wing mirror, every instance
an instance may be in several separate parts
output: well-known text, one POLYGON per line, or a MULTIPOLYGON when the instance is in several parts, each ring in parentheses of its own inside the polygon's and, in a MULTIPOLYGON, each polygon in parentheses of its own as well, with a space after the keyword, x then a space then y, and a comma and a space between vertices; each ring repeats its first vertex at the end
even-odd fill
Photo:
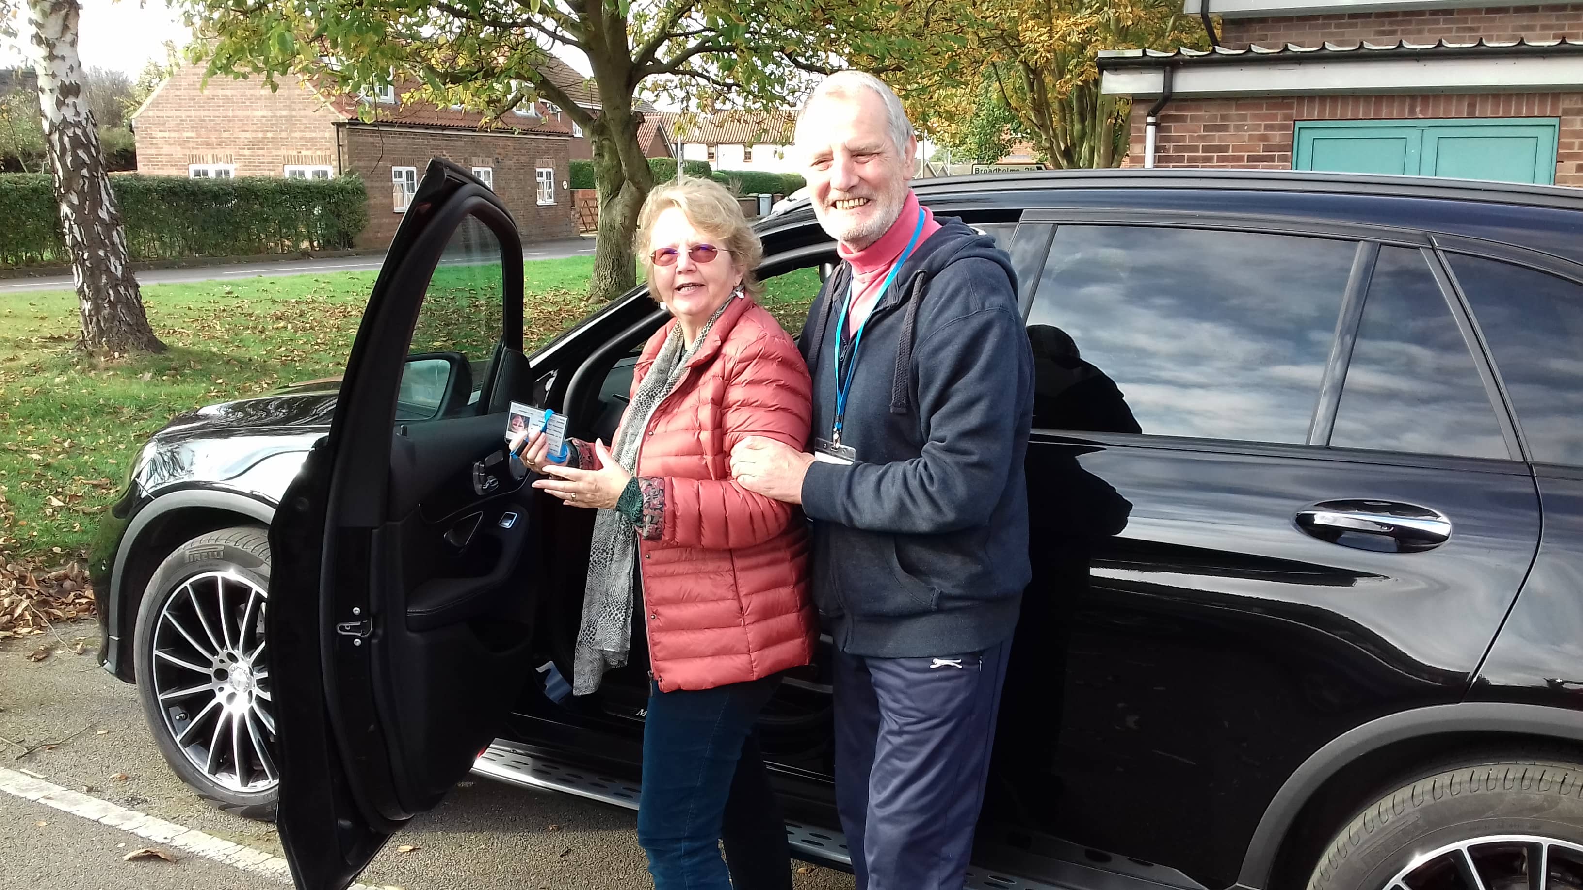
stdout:
POLYGON ((451 234, 418 310, 396 397, 396 420, 478 413, 505 317, 500 239, 467 217, 451 234))

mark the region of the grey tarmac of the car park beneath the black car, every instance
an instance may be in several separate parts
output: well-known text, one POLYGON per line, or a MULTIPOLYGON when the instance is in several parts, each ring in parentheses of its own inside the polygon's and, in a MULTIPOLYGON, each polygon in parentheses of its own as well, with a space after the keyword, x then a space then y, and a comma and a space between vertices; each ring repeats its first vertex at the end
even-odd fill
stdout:
MULTIPOLYGON (((116 806, 282 855, 274 827, 207 806, 171 773, 149 736, 136 690, 95 662, 93 626, 59 630, 62 640, 0 641, 0 736, 6 740, 0 743, 0 768, 25 771, 116 806), (81 656, 66 648, 79 638, 87 641, 81 656), (32 662, 27 654, 40 641, 55 643, 52 654, 32 662), (54 751, 25 755, 16 746, 60 740, 65 741, 54 751)), ((652 887, 633 827, 635 814, 627 809, 475 779, 457 787, 434 812, 413 820, 359 880, 375 888, 405 890, 652 887), (402 854, 396 849, 400 844, 418 849, 402 854)), ((160 844, 44 803, 0 793, 0 887, 280 887, 269 877, 180 850, 169 850, 176 854, 174 863, 123 860, 127 852, 142 847, 160 844)), ((850 874, 817 868, 795 874, 795 885, 798 890, 852 890, 853 882, 850 874)))

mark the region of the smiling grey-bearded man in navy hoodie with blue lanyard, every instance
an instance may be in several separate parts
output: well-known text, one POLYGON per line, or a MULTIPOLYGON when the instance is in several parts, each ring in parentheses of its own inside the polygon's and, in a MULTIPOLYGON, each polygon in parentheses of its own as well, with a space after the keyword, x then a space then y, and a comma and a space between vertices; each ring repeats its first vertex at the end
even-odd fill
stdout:
POLYGON ((1034 366, 1016 279, 991 238, 918 204, 917 138, 877 78, 820 84, 796 149, 844 260, 799 342, 812 453, 749 439, 731 469, 814 523, 858 887, 956 890, 1031 575, 1034 366))

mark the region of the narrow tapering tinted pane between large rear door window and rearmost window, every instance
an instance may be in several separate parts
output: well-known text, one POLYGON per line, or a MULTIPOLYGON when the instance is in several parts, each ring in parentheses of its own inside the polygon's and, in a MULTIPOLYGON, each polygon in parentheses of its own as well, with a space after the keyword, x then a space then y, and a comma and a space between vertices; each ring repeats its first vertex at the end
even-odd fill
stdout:
POLYGON ((1380 249, 1330 443, 1507 456, 1474 356, 1418 250, 1380 249))

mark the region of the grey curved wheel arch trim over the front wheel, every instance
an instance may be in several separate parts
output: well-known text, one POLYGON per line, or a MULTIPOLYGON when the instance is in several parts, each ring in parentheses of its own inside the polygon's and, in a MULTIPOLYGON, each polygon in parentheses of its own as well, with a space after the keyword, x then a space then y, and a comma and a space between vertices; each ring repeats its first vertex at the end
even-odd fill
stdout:
POLYGON ((256 497, 212 489, 161 494, 139 510, 116 548, 111 570, 104 667, 127 683, 136 683, 133 627, 144 588, 155 569, 182 543, 233 526, 264 526, 275 508, 256 497))

